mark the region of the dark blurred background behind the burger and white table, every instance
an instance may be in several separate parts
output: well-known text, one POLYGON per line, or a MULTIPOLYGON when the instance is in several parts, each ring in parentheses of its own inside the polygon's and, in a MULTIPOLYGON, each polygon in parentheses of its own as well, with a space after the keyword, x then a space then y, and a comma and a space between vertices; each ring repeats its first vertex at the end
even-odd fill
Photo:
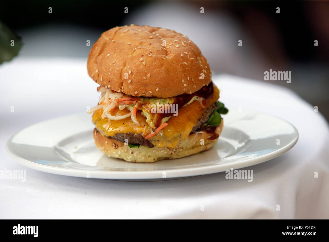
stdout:
POLYGON ((265 82, 264 71, 291 71, 291 83, 272 82, 318 106, 329 120, 328 1, 38 0, 3 1, 1 7, 0 21, 21 38, 16 58, 87 59, 92 44, 112 27, 159 26, 193 40, 214 72, 265 82))

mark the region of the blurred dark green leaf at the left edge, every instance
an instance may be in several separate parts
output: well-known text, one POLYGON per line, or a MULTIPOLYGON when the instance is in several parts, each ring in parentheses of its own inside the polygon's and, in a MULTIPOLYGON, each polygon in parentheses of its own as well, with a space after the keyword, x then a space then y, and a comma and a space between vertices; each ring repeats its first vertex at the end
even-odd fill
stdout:
POLYGON ((4 23, 0 22, 0 64, 13 59, 18 54, 21 46, 20 38, 4 23))

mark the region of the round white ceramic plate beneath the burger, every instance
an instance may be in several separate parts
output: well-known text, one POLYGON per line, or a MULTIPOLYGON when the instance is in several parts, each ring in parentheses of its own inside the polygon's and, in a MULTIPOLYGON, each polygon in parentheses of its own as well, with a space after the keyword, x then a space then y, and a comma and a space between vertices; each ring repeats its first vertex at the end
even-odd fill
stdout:
POLYGON ((155 163, 111 158, 93 143, 91 116, 74 114, 27 127, 7 142, 20 164, 59 175, 117 180, 173 179, 239 169, 268 161, 291 149, 296 128, 277 117, 254 112, 223 116, 216 145, 192 156, 155 163))

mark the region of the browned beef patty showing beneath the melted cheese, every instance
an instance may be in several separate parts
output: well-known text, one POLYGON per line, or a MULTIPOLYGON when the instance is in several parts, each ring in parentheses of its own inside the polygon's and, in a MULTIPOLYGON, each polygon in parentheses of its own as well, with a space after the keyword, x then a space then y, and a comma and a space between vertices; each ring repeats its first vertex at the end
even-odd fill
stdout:
MULTIPOLYGON (((202 114, 198 123, 192 128, 191 132, 194 132, 195 130, 200 128, 205 122, 207 122, 209 119, 209 116, 216 109, 216 107, 217 107, 216 103, 214 103, 210 107, 208 107, 206 109, 206 111, 204 111, 204 113, 202 114)), ((128 132, 127 134, 116 133, 114 136, 112 136, 110 138, 113 138, 122 143, 124 143, 125 139, 127 139, 128 143, 132 144, 132 145, 142 145, 142 146, 148 146, 150 148, 154 147, 154 145, 151 142, 149 142, 148 140, 144 139, 143 135, 141 135, 141 134, 134 134, 131 132, 128 132)))

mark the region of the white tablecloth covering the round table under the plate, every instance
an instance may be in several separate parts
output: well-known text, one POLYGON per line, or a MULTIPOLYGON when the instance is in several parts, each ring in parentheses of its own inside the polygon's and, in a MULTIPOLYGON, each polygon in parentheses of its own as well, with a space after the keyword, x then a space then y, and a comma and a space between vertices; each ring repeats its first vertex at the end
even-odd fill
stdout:
POLYGON ((0 66, 0 79, 0 170, 26 170, 25 182, 0 179, 1 219, 329 218, 329 129, 320 114, 324 107, 314 112, 287 88, 214 77, 220 100, 229 109, 241 106, 242 111, 273 114, 298 129, 299 140, 290 151, 248 168, 253 170, 252 182, 227 180, 225 173, 126 182, 35 171, 17 164, 5 150, 6 141, 22 128, 95 104, 97 84, 87 75, 86 59, 16 58, 0 66))

